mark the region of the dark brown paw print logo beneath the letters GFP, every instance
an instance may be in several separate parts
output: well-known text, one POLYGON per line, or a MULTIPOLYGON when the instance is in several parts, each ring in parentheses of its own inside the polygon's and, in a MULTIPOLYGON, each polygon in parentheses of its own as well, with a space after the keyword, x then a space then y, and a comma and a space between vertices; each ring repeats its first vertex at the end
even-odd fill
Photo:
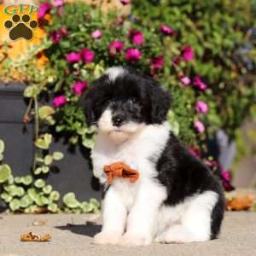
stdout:
POLYGON ((30 40, 33 37, 33 29, 38 26, 38 21, 30 20, 29 15, 13 15, 12 20, 6 20, 4 26, 9 29, 9 38, 15 41, 18 38, 30 40))

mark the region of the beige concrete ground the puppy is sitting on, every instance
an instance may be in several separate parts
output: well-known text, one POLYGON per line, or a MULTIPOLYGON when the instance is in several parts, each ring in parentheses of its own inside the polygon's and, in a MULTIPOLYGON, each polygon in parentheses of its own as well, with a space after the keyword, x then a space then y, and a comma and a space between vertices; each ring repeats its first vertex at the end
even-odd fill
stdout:
POLYGON ((255 256, 256 213, 227 212, 221 236, 218 240, 190 244, 153 244, 148 247, 116 247, 93 244, 92 236, 101 228, 88 221, 93 215, 0 215, 1 256, 255 256), (47 221, 42 226, 35 221, 47 221), (87 222, 87 224, 86 224, 87 222), (21 242, 26 232, 49 233, 49 242, 21 242))

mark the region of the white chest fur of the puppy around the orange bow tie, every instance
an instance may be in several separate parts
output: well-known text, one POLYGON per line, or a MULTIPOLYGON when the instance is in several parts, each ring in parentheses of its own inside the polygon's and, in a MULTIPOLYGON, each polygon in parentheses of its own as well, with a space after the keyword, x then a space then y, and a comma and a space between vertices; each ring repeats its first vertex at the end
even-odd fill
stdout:
MULTIPOLYGON (((125 206, 130 208, 137 190, 143 183, 153 181, 157 175, 152 158, 158 159, 169 137, 169 125, 146 125, 137 136, 130 138, 125 143, 116 145, 105 134, 96 136, 96 146, 92 150, 94 174, 101 183, 106 183, 107 177, 103 172, 106 165, 122 161, 126 165, 137 169, 139 178, 136 183, 130 183, 128 179, 115 178, 113 189, 118 191, 125 206)), ((156 182, 155 182, 156 183, 156 182)))

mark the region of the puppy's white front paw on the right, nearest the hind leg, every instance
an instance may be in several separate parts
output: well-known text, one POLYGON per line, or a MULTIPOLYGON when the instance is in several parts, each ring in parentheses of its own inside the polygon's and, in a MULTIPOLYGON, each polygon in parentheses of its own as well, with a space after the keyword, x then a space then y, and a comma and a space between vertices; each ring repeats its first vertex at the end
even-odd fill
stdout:
POLYGON ((125 233, 125 235, 120 239, 119 245, 125 247, 144 247, 148 246, 151 241, 152 239, 150 237, 125 233))

